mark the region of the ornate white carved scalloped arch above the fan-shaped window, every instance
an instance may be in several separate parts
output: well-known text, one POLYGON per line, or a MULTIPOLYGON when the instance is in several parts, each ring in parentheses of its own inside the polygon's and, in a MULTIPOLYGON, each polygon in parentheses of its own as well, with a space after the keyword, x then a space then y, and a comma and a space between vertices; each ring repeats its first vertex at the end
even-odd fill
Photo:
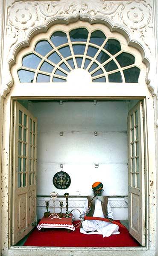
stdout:
POLYGON ((13 85, 10 68, 15 62, 15 56, 21 48, 29 45, 32 37, 56 23, 69 24, 78 19, 89 23, 106 24, 111 31, 123 34, 129 46, 139 49, 142 61, 148 72, 146 83, 153 94, 156 94, 154 84, 155 61, 154 38, 152 26, 152 6, 149 0, 139 0, 137 3, 129 0, 53 0, 53 1, 20 1, 7 0, 6 35, 4 37, 3 59, 3 97, 13 85))

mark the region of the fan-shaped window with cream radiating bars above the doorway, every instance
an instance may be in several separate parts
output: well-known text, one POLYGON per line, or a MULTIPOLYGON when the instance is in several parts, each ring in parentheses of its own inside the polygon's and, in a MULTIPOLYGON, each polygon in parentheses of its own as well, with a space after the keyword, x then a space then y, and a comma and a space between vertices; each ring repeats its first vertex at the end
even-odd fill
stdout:
POLYGON ((21 63, 20 82, 67 82, 74 69, 87 70, 92 82, 138 82, 140 75, 135 56, 121 42, 82 27, 38 41, 21 63))

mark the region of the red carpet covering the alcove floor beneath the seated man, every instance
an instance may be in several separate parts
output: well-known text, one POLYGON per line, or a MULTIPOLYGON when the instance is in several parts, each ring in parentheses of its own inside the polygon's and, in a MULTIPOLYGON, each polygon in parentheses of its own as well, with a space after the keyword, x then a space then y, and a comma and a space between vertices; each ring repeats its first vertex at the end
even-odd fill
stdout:
MULTIPOLYGON (((74 221, 76 224, 78 221, 74 221)), ((117 222, 120 222, 117 220, 117 222)), ((75 231, 67 232, 67 229, 45 229, 44 232, 35 229, 27 238, 25 246, 49 246, 49 247, 135 247, 140 244, 129 234, 127 229, 119 228, 119 235, 111 235, 102 238, 102 235, 85 235, 75 231)))

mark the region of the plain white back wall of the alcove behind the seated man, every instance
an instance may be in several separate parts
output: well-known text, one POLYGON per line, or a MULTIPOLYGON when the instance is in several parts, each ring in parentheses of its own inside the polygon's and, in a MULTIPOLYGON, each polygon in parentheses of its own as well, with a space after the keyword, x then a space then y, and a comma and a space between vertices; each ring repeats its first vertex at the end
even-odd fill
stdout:
MULTIPOLYGON (((50 195, 55 190, 59 195, 90 195, 91 185, 101 181, 105 195, 128 195, 128 108, 126 101, 29 104, 29 110, 38 118, 37 194, 50 195), (61 131, 63 136, 59 135, 61 131), (52 182, 60 164, 71 178, 66 190, 56 189, 52 182)), ((125 215, 123 219, 127 219, 128 208, 124 214, 122 210, 114 209, 116 218, 125 215)), ((39 210, 38 215, 43 212, 39 210)))

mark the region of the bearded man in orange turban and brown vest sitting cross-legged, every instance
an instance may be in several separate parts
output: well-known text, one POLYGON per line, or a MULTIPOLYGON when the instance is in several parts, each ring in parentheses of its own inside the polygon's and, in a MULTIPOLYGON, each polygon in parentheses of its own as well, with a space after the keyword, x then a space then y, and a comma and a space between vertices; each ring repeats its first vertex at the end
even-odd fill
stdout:
POLYGON ((108 218, 109 222, 102 220, 84 220, 80 232, 84 234, 102 234, 104 238, 110 235, 120 234, 120 232, 118 232, 118 225, 112 224, 114 217, 107 196, 102 195, 102 188, 103 185, 101 182, 95 182, 92 185, 94 197, 88 196, 87 205, 83 210, 83 214, 86 216, 108 218))

